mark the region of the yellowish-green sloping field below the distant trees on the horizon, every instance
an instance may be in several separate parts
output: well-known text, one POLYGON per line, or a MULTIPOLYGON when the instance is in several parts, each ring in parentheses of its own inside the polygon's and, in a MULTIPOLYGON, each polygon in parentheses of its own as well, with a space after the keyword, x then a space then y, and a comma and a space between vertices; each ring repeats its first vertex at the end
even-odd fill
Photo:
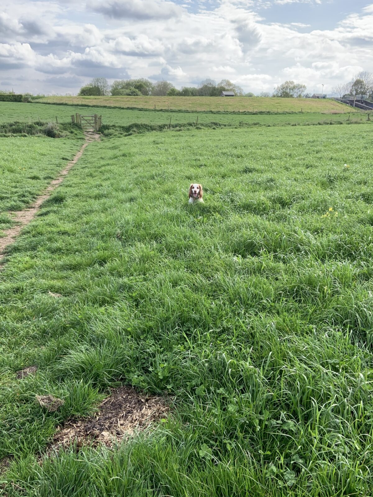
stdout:
MULTIPOLYGON (((48 96, 36 102, 138 107, 144 109, 219 110, 232 112, 350 112, 335 100, 264 97, 168 97, 168 96, 48 96)), ((352 109, 354 110, 354 109, 352 109)))

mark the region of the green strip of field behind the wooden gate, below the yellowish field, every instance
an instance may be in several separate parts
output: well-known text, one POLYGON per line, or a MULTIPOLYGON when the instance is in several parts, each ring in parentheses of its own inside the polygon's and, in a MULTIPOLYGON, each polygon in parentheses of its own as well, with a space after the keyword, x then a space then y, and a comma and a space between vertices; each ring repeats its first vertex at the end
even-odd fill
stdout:
MULTIPOLYGON (((210 114, 198 112, 168 112, 151 110, 110 109, 106 107, 79 107, 68 105, 45 105, 41 103, 0 102, 1 122, 34 122, 39 118, 42 121, 69 122, 71 115, 100 114, 103 124, 116 124, 127 126, 133 123, 146 124, 172 124, 196 122, 199 124, 217 122, 229 126, 250 126, 253 124, 263 126, 282 126, 291 124, 317 124, 318 122, 346 122, 348 114, 324 114, 307 112, 298 114, 210 114)), ((354 122, 366 122, 364 112, 355 112, 350 118, 354 122)))

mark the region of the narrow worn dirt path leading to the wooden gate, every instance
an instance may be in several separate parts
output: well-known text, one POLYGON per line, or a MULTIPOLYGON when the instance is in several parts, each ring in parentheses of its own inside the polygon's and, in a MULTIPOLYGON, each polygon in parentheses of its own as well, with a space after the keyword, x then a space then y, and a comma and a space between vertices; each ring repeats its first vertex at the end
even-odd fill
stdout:
POLYGON ((69 173, 70 169, 82 157, 84 149, 90 143, 99 140, 99 135, 97 133, 93 133, 92 131, 85 132, 85 137, 86 141, 84 142, 74 159, 68 163, 65 169, 63 169, 59 173, 56 179, 49 183, 44 193, 40 195, 40 197, 38 197, 36 201, 27 209, 11 213, 13 215, 12 219, 16 223, 16 226, 12 226, 8 230, 3 231, 3 236, 0 238, 0 263, 5 255, 4 250, 14 242, 14 239, 20 234, 22 228, 28 225, 34 219, 40 209, 41 204, 51 196, 52 192, 57 188, 57 186, 62 183, 65 176, 69 173))

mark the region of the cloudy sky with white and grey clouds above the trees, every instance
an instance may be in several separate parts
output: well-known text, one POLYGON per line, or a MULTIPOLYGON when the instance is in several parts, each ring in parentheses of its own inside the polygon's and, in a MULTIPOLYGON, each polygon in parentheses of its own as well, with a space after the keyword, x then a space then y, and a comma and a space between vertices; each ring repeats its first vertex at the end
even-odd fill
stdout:
POLYGON ((373 70, 363 0, 2 0, 0 89, 67 94, 94 77, 227 78, 272 92, 328 92, 373 70))

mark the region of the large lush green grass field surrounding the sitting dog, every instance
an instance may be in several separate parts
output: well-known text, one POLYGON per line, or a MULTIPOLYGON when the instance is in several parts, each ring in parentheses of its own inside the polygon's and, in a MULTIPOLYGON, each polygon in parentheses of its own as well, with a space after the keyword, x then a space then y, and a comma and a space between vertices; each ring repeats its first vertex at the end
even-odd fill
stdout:
POLYGON ((370 132, 91 144, 0 273, 6 495, 370 496, 370 132), (188 205, 192 181, 204 204, 188 205), (40 462, 118 382, 171 395, 168 420, 40 462), (55 413, 47 394, 65 400, 55 413))

